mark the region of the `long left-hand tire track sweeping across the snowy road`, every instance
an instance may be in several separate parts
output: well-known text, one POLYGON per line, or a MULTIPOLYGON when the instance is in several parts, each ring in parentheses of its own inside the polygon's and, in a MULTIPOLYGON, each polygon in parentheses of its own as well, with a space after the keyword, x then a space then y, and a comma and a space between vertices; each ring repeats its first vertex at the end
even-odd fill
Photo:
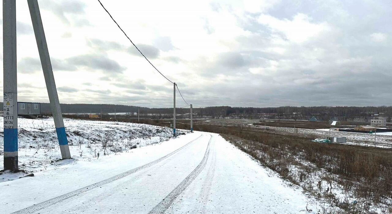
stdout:
MULTIPOLYGON (((200 135, 199 137, 197 137, 196 139, 192 140, 191 142, 185 144, 184 146, 182 146, 182 147, 176 149, 175 151, 172 151, 171 153, 169 153, 169 154, 167 154, 167 155, 165 155, 165 156, 163 156, 163 157, 161 157, 161 158, 158 158, 158 159, 156 159, 156 160, 154 160, 154 161, 152 161, 152 162, 149 162, 148 164, 142 165, 142 166, 140 166, 140 167, 136 167, 136 168, 131 169, 131 170, 129 170, 129 171, 126 171, 126 172, 124 172, 124 173, 117 174, 117 175, 115 175, 115 176, 113 176, 113 177, 111 177, 111 178, 107 178, 107 179, 102 180, 102 181, 100 181, 100 182, 93 183, 93 184, 91 184, 91 185, 88 185, 88 186, 82 187, 82 188, 80 188, 80 189, 77 189, 77 190, 75 190, 75 191, 66 193, 66 194, 64 194, 64 195, 57 196, 57 197, 55 197, 55 198, 52 198, 52 199, 43 201, 43 202, 41 202, 41 203, 32 205, 32 206, 30 206, 30 207, 26 207, 26 208, 24 208, 24 209, 21 209, 21 210, 18 210, 18 211, 16 211, 16 212, 13 212, 12 214, 30 214, 30 213, 34 213, 34 212, 37 212, 37 211, 42 210, 42 209, 44 209, 44 208, 50 207, 51 205, 54 205, 54 204, 56 204, 56 203, 62 202, 62 201, 64 201, 64 200, 68 199, 68 198, 72 198, 72 197, 74 197, 74 196, 77 196, 77 195, 79 195, 79 194, 82 194, 83 192, 87 192, 87 191, 92 190, 92 189, 94 189, 94 188, 96 188, 96 187, 100 187, 100 186, 102 186, 102 185, 105 185, 105 184, 107 184, 107 183, 113 182, 113 181, 115 181, 115 180, 118 180, 118 179, 123 178, 123 177, 125 177, 125 176, 128 176, 128 175, 130 175, 130 174, 136 173, 137 171, 140 171, 140 170, 145 169, 145 168, 147 168, 147 167, 150 167, 150 166, 152 166, 152 165, 154 165, 154 164, 157 164, 158 162, 161 162, 162 160, 168 158, 169 156, 174 155, 175 153, 177 153, 177 152, 180 151, 181 149, 184 149, 185 147, 189 146, 189 144, 191 144, 192 142, 195 142, 196 140, 198 140, 198 139, 199 139, 200 137, 202 137, 202 136, 203 136, 203 135, 200 135)), ((210 139, 210 140, 211 140, 211 139, 210 139)))

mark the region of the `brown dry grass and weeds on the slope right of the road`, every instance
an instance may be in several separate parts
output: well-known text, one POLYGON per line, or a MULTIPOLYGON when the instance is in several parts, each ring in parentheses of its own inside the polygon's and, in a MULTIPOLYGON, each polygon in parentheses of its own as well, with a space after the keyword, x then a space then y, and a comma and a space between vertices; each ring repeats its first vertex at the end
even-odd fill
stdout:
MULTIPOLYGON (((130 121, 124 121, 130 122, 130 121)), ((162 120, 140 120, 140 122, 170 126, 162 120)), ((189 129, 189 124, 177 124, 178 129, 189 129)), ((348 146, 341 144, 321 144, 311 142, 310 138, 267 133, 262 130, 223 128, 219 126, 196 124, 195 131, 219 133, 224 138, 248 153, 261 164, 278 172, 282 178, 301 185, 316 171, 327 171, 323 179, 338 183, 350 193, 351 198, 363 199, 360 203, 336 198, 331 191, 313 191, 302 186, 316 197, 327 199, 328 203, 345 210, 343 213, 376 213, 371 205, 383 205, 381 213, 391 213, 392 204, 392 151, 374 147, 348 146), (263 155, 261 155, 263 154, 263 155), (311 165, 303 164, 311 163, 311 165), (292 176, 292 165, 301 169, 299 176, 292 176), (331 194, 330 194, 331 193, 331 194)), ((321 182, 321 181, 320 181, 321 182)), ((332 186, 331 186, 332 188, 332 186)), ((341 212, 329 212, 341 213, 341 212)))

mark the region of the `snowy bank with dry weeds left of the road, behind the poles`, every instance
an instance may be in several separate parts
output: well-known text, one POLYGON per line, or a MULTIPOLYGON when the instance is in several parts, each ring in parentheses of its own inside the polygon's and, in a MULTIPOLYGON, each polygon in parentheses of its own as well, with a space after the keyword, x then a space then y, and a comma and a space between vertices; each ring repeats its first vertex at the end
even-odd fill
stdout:
MULTIPOLYGON (((1 117, 0 123, 3 118, 1 117)), ((53 118, 18 118, 19 169, 42 171, 75 160, 102 158, 136 147, 168 140, 172 129, 113 121, 64 119, 72 161, 61 160, 53 118), (99 156, 99 157, 98 157, 99 156)), ((3 165, 3 130, 0 133, 0 165, 3 165)), ((0 175, 0 182, 10 175, 0 175)))

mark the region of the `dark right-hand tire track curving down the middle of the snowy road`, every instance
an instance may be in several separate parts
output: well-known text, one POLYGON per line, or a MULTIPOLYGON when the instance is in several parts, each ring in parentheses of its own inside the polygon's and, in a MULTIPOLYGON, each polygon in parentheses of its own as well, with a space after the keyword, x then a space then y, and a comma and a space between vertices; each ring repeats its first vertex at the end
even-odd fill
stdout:
POLYGON ((201 160, 200 164, 176 187, 174 188, 158 205, 156 205, 149 214, 157 214, 164 213, 173 203, 174 200, 183 192, 189 184, 200 174, 200 172, 204 169, 205 164, 207 163, 208 156, 210 154, 211 147, 211 138, 208 142, 207 149, 205 150, 204 157, 201 160))

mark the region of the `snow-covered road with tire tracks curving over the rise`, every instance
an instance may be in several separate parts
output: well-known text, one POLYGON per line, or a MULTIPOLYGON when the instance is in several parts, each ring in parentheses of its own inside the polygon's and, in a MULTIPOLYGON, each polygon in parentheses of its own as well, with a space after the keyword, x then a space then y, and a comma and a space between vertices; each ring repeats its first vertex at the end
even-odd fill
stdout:
POLYGON ((299 187, 195 132, 1 183, 5 213, 316 213, 299 187))

